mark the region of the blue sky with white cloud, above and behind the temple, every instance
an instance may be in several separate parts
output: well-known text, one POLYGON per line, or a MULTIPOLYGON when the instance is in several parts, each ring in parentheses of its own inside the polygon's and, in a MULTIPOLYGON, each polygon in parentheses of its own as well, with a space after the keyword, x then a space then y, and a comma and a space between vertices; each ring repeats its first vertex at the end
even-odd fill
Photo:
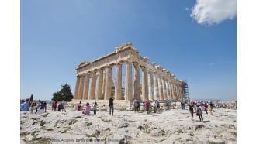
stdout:
POLYGON ((20 98, 50 100, 65 83, 74 94, 74 67, 131 42, 191 99, 236 100, 237 3, 225 2, 20 1, 20 98))

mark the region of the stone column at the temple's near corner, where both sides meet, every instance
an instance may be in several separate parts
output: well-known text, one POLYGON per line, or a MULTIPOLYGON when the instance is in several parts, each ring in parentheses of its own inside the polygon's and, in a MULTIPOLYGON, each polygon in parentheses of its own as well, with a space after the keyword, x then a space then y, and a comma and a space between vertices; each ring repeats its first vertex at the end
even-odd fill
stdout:
POLYGON ((133 98, 132 63, 130 61, 126 61, 125 100, 130 101, 132 98, 133 98))

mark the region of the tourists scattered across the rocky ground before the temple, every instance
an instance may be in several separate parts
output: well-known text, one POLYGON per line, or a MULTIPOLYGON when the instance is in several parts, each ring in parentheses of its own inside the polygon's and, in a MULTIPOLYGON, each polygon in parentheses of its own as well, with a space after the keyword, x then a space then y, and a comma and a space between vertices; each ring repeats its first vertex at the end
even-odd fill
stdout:
MULTIPOLYGON (((109 115, 113 115, 114 113, 114 101, 115 98, 110 97, 109 98, 109 115)), ((52 111, 61 111, 66 112, 66 103, 65 101, 60 101, 59 103, 57 101, 52 102, 52 111)), ((199 121, 203 121, 202 111, 205 111, 208 115, 208 110, 210 112, 210 115, 213 115, 213 102, 209 101, 189 101, 189 112, 191 115, 191 119, 193 120, 194 113, 196 116, 199 117, 199 121)), ((160 102, 157 100, 154 101, 139 101, 134 99, 133 101, 133 108, 134 112, 144 112, 147 111, 147 115, 150 113, 160 113, 160 102), (142 107, 141 107, 142 106, 142 107), (142 109, 140 109, 142 108, 142 109)), ((177 108, 177 107, 176 107, 177 108)), ((181 102, 181 108, 182 110, 185 110, 185 103, 181 102)), ((85 115, 91 115, 90 111, 93 110, 93 115, 96 115, 96 111, 98 109, 98 104, 95 101, 93 104, 93 107, 91 108, 90 104, 87 102, 84 107, 82 107, 81 101, 78 104, 78 111, 82 111, 82 114, 85 115), (82 110, 83 108, 83 110, 82 110)), ((30 111, 31 114, 41 114, 43 112, 47 111, 47 102, 46 101, 30 101, 28 98, 26 100, 20 101, 20 111, 30 111)))

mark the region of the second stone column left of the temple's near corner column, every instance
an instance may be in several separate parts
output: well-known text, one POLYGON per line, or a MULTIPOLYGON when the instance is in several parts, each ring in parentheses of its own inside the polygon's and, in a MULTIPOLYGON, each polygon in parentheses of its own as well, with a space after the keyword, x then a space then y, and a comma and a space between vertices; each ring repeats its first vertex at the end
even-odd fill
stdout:
POLYGON ((112 67, 113 65, 107 66, 107 74, 106 74, 106 87, 105 87, 105 95, 104 99, 109 100, 112 91, 112 67))

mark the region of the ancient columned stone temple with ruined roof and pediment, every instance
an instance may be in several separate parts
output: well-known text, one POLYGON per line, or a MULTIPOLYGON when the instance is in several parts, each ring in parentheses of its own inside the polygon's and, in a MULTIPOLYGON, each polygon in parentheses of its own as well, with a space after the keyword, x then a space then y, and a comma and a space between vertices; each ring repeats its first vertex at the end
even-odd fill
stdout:
POLYGON ((148 60, 149 57, 140 56, 132 43, 124 43, 116 46, 114 52, 92 62, 81 62, 75 67, 77 80, 73 101, 107 103, 110 97, 124 105, 132 104, 134 99, 183 101, 185 82, 161 65, 148 63, 148 60))

